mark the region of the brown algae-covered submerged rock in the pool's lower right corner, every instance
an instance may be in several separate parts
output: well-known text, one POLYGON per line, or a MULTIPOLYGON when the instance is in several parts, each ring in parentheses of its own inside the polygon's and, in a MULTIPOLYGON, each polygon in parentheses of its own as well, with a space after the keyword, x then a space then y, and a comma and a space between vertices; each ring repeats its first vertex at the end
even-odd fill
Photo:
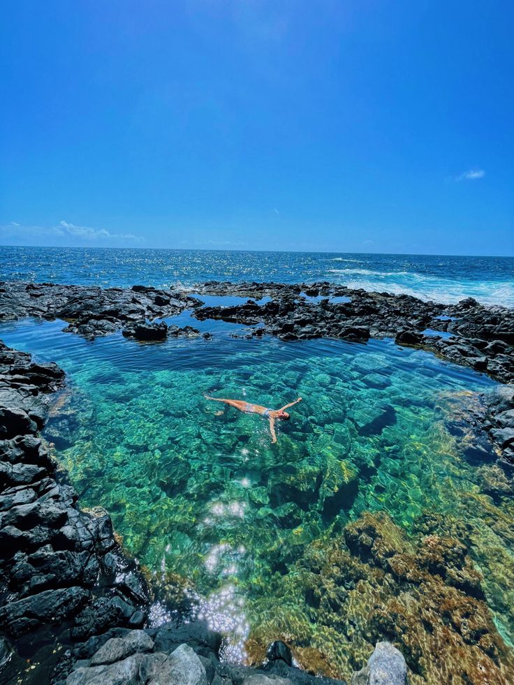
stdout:
POLYGON ((288 596, 304 593, 310 621, 295 620, 284 596, 284 607, 251 631, 251 657, 262 658, 267 635, 280 636, 305 668, 317 651, 321 670, 350 677, 388 640, 404 655, 411 684, 510 683, 514 655, 483 600, 481 576, 441 524, 423 517, 423 533, 409 538, 387 515, 364 513, 339 543, 315 540, 287 588, 288 596))

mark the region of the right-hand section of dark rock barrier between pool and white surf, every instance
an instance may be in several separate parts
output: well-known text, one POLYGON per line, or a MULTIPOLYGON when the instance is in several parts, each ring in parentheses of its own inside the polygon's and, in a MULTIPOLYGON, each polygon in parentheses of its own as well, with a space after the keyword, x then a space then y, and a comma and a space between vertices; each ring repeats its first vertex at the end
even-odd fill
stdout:
POLYGON ((485 371, 504 383, 514 381, 514 311, 483 307, 472 298, 458 304, 423 302, 410 295, 368 293, 332 283, 203 283, 208 295, 272 297, 233 307, 201 307, 193 316, 246 325, 263 323, 265 333, 284 340, 332 337, 366 341, 392 337, 400 345, 419 346, 457 364, 485 371), (307 297, 305 297, 307 295, 307 297), (333 298, 347 297, 349 302, 333 298), (313 302, 309 298, 322 299, 313 302), (429 334, 425 331, 429 330, 429 334))

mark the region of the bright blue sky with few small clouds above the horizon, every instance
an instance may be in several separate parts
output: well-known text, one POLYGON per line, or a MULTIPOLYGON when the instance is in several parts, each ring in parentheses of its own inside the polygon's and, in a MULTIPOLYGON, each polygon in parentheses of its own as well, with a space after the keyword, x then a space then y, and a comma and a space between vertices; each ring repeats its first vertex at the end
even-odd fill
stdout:
POLYGON ((2 15, 0 244, 514 254, 512 3, 2 15))

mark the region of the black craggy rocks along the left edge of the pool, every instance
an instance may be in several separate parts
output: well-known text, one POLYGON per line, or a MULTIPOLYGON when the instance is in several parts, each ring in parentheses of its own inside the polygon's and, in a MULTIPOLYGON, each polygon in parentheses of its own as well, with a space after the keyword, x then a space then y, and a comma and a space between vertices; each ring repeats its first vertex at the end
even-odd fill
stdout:
POLYGON ((0 631, 6 645, 49 626, 59 632, 68 624, 68 632, 85 638, 145 621, 146 584, 117 545, 110 517, 78 508, 38 436, 50 395, 63 385, 55 364, 36 364, 0 343, 0 631))

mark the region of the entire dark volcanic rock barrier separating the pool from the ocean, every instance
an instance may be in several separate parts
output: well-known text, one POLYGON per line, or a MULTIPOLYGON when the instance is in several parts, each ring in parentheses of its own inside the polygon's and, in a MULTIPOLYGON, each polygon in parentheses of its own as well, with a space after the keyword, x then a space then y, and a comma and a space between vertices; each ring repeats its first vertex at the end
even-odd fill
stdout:
POLYGON ((63 318, 68 321, 64 330, 88 339, 123 327, 129 337, 155 340, 166 337, 164 327, 141 322, 167 318, 192 308, 193 316, 200 321, 218 319, 248 326, 260 323, 263 327, 252 332, 256 337, 265 333, 288 341, 393 337, 399 344, 423 347, 457 364, 485 371, 499 381, 514 381, 514 311, 483 307, 471 297, 458 304, 444 305, 422 302, 410 295, 351 290, 328 281, 295 285, 209 281, 200 283, 195 290, 205 295, 237 295, 249 300, 230 307, 202 307, 200 300, 177 289, 138 285, 102 290, 54 283, 0 282, 0 321, 22 316, 63 318), (311 302, 302 293, 322 295, 325 299, 311 302), (351 301, 331 299, 342 295, 351 301), (259 304, 264 296, 272 301, 259 304), (425 335, 427 327, 450 332, 453 337, 425 335))

